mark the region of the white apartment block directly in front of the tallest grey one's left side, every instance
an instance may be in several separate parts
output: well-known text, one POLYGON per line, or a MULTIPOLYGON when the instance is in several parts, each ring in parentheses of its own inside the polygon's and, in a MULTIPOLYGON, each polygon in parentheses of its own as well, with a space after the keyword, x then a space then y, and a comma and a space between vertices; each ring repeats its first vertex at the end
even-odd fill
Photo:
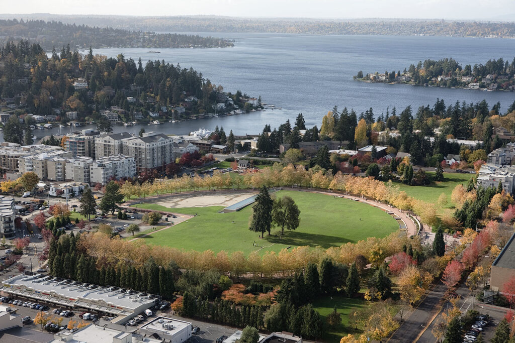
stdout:
POLYGON ((136 161, 134 157, 123 154, 102 157, 90 165, 91 184, 105 185, 113 177, 133 177, 136 175, 136 161))

